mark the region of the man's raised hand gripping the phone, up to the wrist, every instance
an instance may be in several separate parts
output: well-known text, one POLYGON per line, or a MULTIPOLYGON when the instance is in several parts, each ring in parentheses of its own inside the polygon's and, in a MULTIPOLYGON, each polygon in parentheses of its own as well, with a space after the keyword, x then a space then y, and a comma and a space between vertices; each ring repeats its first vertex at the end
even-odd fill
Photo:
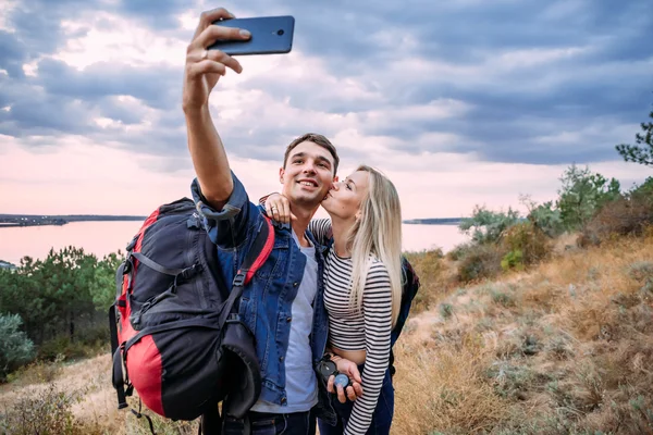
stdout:
POLYGON ((208 48, 217 40, 245 41, 251 37, 249 30, 237 27, 213 25, 215 21, 231 20, 234 15, 224 8, 204 12, 193 40, 186 50, 184 69, 183 108, 188 113, 208 107, 209 95, 226 70, 241 74, 241 63, 221 50, 208 48))

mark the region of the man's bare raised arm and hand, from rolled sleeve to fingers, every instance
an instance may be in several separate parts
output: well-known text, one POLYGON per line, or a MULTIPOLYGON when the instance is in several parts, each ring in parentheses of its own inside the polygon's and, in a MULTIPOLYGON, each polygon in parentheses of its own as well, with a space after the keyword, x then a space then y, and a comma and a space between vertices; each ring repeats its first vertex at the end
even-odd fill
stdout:
POLYGON ((222 210, 234 184, 222 140, 211 120, 209 96, 226 69, 241 73, 235 59, 220 50, 207 50, 217 39, 243 40, 249 38, 245 29, 212 25, 217 20, 234 16, 225 9, 201 14, 193 41, 186 50, 184 69, 183 109, 188 130, 188 150, 197 174, 201 195, 214 210, 222 210))

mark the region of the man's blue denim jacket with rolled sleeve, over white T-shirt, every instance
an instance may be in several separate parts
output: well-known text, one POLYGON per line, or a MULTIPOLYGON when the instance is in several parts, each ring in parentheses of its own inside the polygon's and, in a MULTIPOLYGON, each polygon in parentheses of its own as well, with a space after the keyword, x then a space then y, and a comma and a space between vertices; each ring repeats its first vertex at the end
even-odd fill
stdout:
MULTIPOLYGON (((262 209, 249 201, 243 184, 233 172, 232 178, 234 190, 221 211, 207 204, 197 179, 193 181, 190 187, 197 211, 204 219, 210 239, 218 247, 220 269, 226 283, 233 281, 255 235, 264 224, 262 209)), ((318 291, 310 335, 315 369, 326 347, 329 318, 324 308, 323 248, 316 243, 310 232, 306 235, 316 246, 318 262, 318 291)), ((241 298, 241 316, 256 338, 262 377, 260 398, 281 406, 287 400, 284 361, 291 333, 291 308, 297 296, 305 265, 306 257, 293 240, 289 225, 274 223, 272 252, 245 287, 241 298)), ((316 411, 320 418, 335 422, 335 413, 320 376, 318 383, 319 402, 316 411)))

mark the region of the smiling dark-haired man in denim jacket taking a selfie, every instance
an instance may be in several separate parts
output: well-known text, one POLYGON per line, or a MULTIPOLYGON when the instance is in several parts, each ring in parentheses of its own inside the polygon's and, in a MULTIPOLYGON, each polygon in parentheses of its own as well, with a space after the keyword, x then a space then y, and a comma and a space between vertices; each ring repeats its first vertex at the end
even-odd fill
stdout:
MULTIPOLYGON (((209 95, 226 69, 238 74, 243 71, 235 59, 219 50, 207 50, 217 39, 249 38, 244 29, 211 25, 231 17, 224 9, 202 14, 187 49, 183 96, 188 149, 197 174, 193 197, 218 245, 226 282, 233 278, 263 220, 261 209, 249 201, 232 173, 209 113, 209 95)), ((245 289, 239 306, 255 334, 261 365, 261 395, 245 419, 254 434, 315 434, 316 415, 335 421, 315 372, 326 346, 328 316, 322 300, 322 251, 306 229, 337 181, 337 164, 333 145, 321 135, 307 134, 287 147, 279 173, 283 195, 297 219, 292 229, 287 224, 275 224, 274 249, 245 289)), ((360 382, 355 364, 338 364, 338 369, 360 382)), ((360 395, 361 390, 356 393, 360 395)), ((347 395, 356 397, 353 388, 347 395)), ((227 419, 224 431, 239 434, 245 425, 227 419)))

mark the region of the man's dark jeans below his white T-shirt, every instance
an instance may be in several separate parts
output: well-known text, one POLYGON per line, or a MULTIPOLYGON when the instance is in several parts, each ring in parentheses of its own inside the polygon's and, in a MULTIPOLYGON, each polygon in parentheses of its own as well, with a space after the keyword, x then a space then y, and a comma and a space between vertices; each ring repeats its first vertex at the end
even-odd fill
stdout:
MULTIPOLYGON (((315 435, 316 415, 312 411, 288 414, 270 414, 266 412, 248 413, 251 435, 315 435)), ((224 422, 223 435, 242 435, 244 423, 227 418, 224 422)))

